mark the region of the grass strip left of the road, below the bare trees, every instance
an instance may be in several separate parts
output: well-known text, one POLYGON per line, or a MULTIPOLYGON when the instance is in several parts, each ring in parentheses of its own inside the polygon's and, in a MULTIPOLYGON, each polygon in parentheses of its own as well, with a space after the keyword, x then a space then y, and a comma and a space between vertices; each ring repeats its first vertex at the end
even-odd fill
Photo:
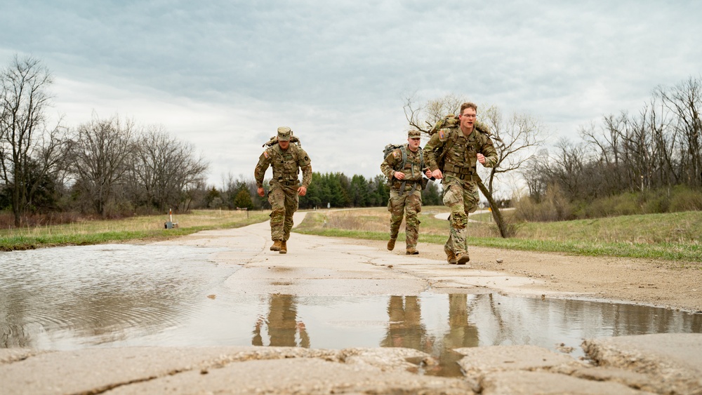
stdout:
POLYGON ((131 217, 124 220, 93 220, 0 230, 0 250, 26 250, 52 246, 81 246, 128 240, 163 240, 207 229, 242 227, 268 219, 267 211, 193 210, 176 215, 178 228, 165 229, 166 215, 131 217))

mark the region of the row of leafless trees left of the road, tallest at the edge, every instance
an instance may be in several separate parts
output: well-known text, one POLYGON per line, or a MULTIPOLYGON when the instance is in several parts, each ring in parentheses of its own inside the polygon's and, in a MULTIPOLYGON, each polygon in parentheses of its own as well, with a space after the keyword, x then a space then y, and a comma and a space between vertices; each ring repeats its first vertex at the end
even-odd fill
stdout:
POLYGON ((0 72, 0 209, 15 226, 35 213, 184 209, 203 188, 208 163, 163 126, 94 113, 75 128, 49 124, 51 83, 31 57, 0 72))

